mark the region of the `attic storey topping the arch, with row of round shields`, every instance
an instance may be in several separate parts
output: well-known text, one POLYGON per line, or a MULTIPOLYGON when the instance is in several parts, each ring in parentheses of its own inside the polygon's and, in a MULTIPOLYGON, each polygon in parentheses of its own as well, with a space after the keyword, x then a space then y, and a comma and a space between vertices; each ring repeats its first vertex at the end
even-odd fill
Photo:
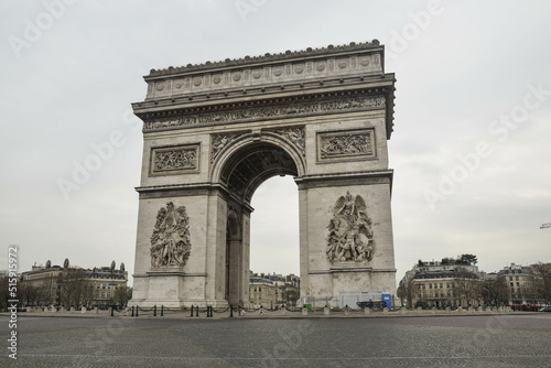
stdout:
POLYGON ((145 101, 383 75, 383 50, 378 42, 377 46, 363 43, 155 71, 144 77, 148 83, 145 101))

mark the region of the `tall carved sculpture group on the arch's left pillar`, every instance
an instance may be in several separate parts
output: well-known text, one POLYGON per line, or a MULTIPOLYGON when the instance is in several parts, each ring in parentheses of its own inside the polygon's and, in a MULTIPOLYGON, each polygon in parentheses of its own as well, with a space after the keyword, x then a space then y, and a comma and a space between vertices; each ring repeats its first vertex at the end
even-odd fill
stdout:
POLYGON ((184 267, 191 250, 190 225, 185 207, 174 208, 174 204, 169 202, 166 208, 159 209, 156 214, 155 227, 151 235, 151 266, 184 267))

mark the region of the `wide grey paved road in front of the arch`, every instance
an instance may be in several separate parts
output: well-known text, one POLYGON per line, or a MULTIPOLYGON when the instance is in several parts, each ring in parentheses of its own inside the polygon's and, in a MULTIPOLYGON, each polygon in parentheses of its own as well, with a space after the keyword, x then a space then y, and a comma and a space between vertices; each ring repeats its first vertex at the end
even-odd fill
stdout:
MULTIPOLYGON (((7 347, 8 317, 0 317, 7 347)), ((400 318, 20 316, 1 367, 551 367, 551 313, 400 318)))

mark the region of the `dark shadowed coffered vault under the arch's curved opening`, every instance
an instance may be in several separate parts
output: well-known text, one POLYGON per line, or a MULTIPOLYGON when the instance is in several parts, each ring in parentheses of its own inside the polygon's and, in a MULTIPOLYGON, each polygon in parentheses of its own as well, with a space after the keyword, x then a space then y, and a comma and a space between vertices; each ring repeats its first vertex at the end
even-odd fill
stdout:
POLYGON ((222 182, 238 197, 250 203, 260 184, 276 175, 298 175, 289 153, 270 143, 253 143, 235 152, 222 171, 222 182))

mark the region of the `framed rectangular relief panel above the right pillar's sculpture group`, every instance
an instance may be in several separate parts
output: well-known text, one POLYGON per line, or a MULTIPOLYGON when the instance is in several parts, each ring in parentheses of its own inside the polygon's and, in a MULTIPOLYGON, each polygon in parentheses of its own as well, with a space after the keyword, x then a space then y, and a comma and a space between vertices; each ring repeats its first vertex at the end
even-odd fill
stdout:
POLYGON ((375 129, 317 132, 317 162, 368 160, 377 156, 375 129))

